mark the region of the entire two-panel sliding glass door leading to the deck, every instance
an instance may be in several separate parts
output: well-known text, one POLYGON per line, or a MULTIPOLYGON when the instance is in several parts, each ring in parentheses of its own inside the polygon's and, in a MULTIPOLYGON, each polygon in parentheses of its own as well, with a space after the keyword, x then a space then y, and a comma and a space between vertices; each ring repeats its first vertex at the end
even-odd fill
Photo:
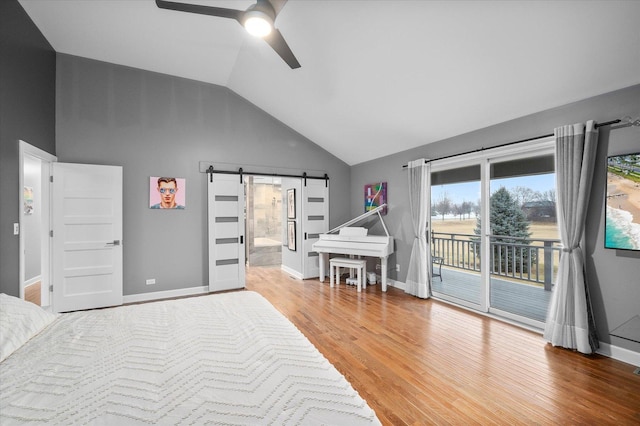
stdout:
POLYGON ((560 250, 553 141, 430 166, 434 297, 542 328, 560 250))

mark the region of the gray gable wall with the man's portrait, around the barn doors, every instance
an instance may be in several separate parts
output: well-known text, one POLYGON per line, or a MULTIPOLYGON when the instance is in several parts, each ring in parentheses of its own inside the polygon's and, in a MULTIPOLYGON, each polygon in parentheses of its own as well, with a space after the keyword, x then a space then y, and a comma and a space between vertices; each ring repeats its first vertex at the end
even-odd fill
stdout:
POLYGON ((207 284, 201 161, 326 172, 349 218, 349 166, 227 88, 59 54, 56 107, 58 161, 124 168, 125 295, 207 284), (150 176, 186 178, 186 209, 150 210, 150 176))

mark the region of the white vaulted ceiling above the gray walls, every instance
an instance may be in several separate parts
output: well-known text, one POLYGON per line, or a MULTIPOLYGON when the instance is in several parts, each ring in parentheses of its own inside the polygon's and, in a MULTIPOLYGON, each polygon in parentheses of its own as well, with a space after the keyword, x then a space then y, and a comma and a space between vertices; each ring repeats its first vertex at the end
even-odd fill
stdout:
POLYGON ((640 83, 640 1, 289 0, 295 70, 154 0, 20 3, 57 52, 226 86, 351 165, 640 83))

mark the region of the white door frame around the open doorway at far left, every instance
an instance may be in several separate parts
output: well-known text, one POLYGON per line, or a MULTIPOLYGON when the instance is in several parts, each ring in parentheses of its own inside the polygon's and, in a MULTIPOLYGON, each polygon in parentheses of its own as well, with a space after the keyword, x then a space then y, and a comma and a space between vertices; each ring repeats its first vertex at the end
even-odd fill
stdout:
MULTIPOLYGON (((18 223, 19 223, 19 258, 20 258, 20 298, 24 299, 24 282, 25 282, 25 242, 24 242, 24 220, 23 220, 23 191, 24 191, 24 161, 25 157, 33 157, 39 159, 43 167, 41 170, 48 170, 49 173, 47 176, 41 176, 41 180, 43 182, 49 181, 51 163, 57 162, 58 158, 55 155, 52 155, 46 151, 43 151, 40 148, 37 148, 29 143, 19 140, 18 141, 18 223)), ((51 188, 47 185, 42 185, 42 194, 41 194, 41 203, 42 203, 42 222, 48 224, 46 233, 43 233, 43 240, 46 238, 47 243, 42 244, 42 254, 40 256, 41 259, 41 275, 42 275, 42 284, 43 291, 47 291, 49 293, 48 305, 51 305, 51 292, 48 290, 49 285, 51 284, 51 239, 48 238, 49 230, 51 229, 51 188), (46 290, 45 290, 46 286, 46 290)))

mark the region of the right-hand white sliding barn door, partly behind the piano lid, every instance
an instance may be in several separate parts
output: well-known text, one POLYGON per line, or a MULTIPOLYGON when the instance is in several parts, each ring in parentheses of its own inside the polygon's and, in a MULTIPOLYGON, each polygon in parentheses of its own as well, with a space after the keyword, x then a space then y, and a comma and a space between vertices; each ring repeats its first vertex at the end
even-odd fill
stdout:
POLYGON ((302 275, 320 276, 318 253, 312 250, 319 235, 329 230, 329 181, 308 179, 302 185, 302 275))

